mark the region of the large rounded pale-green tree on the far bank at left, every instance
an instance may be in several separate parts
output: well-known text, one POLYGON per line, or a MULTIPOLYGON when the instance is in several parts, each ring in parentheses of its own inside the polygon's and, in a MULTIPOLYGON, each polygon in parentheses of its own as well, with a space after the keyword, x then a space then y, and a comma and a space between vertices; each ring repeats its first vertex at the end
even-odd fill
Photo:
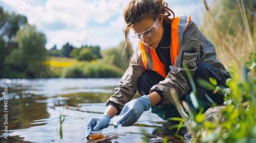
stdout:
POLYGON ((47 59, 46 36, 37 32, 35 26, 26 24, 16 34, 18 48, 11 51, 5 63, 28 73, 40 74, 42 61, 47 59))

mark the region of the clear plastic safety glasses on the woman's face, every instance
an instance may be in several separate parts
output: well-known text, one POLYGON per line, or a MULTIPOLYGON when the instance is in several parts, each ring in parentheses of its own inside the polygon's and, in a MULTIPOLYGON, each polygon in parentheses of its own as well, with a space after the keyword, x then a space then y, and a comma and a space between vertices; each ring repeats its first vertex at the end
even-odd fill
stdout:
POLYGON ((141 32, 139 34, 132 33, 131 36, 140 41, 142 41, 143 37, 146 37, 146 38, 152 37, 158 32, 158 23, 159 23, 159 21, 158 21, 158 17, 157 17, 157 19, 154 22, 152 27, 148 28, 147 30, 145 30, 144 32, 141 32))

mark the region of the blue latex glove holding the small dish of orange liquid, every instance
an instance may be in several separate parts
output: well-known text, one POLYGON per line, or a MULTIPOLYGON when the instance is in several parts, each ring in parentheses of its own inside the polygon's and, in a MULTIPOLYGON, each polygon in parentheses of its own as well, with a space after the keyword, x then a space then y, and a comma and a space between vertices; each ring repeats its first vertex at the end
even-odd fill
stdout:
POLYGON ((110 124, 110 116, 107 114, 103 114, 102 117, 92 117, 87 123, 87 138, 90 134, 93 133, 92 128, 94 131, 104 129, 109 127, 110 124))

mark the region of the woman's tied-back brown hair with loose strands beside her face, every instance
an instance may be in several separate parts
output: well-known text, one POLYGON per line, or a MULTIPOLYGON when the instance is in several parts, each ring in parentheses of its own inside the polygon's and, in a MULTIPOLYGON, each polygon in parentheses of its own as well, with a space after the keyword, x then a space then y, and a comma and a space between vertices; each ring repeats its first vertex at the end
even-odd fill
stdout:
POLYGON ((132 0, 123 11, 123 17, 126 22, 126 26, 123 29, 125 36, 125 48, 128 48, 131 54, 133 54, 132 45, 129 40, 129 32, 131 27, 136 25, 142 18, 156 19, 160 15, 163 15, 163 20, 170 23, 172 19, 169 18, 171 13, 174 12, 167 7, 167 3, 163 0, 132 0), (166 6, 165 6, 166 5, 166 6))

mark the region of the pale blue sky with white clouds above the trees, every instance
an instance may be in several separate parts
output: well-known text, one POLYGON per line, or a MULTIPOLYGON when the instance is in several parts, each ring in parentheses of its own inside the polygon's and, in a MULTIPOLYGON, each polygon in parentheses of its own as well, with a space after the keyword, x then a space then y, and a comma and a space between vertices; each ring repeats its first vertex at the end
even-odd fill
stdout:
MULTIPOLYGON (((5 11, 27 16, 31 25, 47 36, 46 48, 57 49, 69 42, 99 45, 101 50, 124 40, 123 8, 127 0, 0 0, 5 11)), ((190 15, 200 25, 205 11, 203 0, 166 0, 175 15, 190 15)), ((208 3, 211 0, 206 1, 208 3)), ((208 4, 209 5, 209 4, 208 4)))

